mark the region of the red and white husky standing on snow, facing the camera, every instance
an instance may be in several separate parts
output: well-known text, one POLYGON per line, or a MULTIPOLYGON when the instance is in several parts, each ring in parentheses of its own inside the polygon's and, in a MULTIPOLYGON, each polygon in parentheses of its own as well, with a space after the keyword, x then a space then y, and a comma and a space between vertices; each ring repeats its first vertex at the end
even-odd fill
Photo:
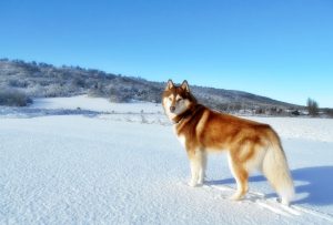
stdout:
POLYGON ((192 175, 190 186, 203 183, 206 153, 228 151, 229 166, 238 184, 232 200, 241 200, 246 194, 249 173, 260 170, 282 203, 290 204, 294 195, 293 181, 281 141, 270 125, 199 104, 186 81, 178 86, 169 80, 162 104, 174 123, 176 137, 186 150, 192 175))

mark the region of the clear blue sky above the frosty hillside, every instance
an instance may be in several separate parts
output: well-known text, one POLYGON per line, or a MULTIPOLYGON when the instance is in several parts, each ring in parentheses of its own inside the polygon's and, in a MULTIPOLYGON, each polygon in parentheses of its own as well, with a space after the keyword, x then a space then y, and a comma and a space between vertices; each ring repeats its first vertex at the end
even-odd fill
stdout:
POLYGON ((333 1, 0 1, 0 58, 333 108, 333 1))

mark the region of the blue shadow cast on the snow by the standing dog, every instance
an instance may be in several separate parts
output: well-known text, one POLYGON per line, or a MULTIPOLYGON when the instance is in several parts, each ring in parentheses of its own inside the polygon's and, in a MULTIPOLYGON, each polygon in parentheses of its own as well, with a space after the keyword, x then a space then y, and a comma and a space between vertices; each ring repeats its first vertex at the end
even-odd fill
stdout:
MULTIPOLYGON (((333 204, 333 166, 304 167, 291 171, 295 182, 295 204, 331 205, 333 204)), ((252 176, 250 182, 266 181, 264 176, 252 176)), ((233 184, 233 178, 209 181, 208 184, 233 184)), ((251 183, 249 184, 251 188, 251 183)), ((270 193, 266 197, 276 196, 270 193)))

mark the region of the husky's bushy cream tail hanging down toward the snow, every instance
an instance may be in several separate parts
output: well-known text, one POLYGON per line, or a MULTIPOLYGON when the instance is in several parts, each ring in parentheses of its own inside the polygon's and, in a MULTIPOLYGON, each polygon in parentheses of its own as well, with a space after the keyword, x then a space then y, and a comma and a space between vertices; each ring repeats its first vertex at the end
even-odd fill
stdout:
POLYGON ((281 197, 289 205, 294 197, 294 184, 287 166, 281 141, 274 131, 269 132, 270 144, 263 158, 263 173, 281 197))

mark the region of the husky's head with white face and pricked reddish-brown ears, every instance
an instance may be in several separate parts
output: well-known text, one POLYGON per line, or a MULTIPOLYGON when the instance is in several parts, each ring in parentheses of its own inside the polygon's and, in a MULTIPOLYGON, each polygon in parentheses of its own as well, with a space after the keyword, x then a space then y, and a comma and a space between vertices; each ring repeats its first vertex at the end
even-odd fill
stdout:
POLYGON ((162 105, 170 120, 184 113, 195 103, 196 100, 190 92, 188 81, 183 81, 181 85, 175 85, 171 80, 168 81, 162 96, 162 105))

